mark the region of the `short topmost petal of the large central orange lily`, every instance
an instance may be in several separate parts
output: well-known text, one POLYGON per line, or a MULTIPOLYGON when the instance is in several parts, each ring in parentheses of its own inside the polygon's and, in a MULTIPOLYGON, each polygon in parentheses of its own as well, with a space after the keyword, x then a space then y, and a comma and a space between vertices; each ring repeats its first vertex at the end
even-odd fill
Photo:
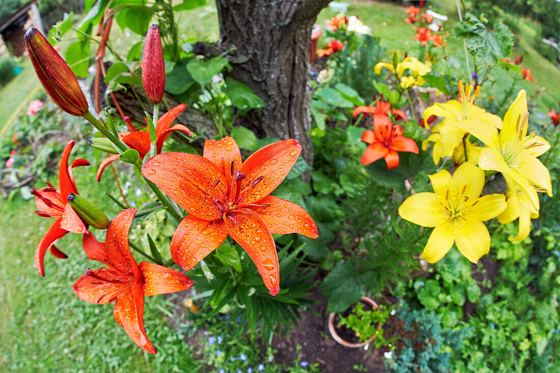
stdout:
MULTIPOLYGON (((226 136, 220 140, 206 140, 204 142, 204 158, 214 162, 218 169, 225 175, 230 193, 235 192, 233 185, 233 171, 241 167, 241 152, 235 140, 226 136), (232 165, 233 163, 233 165, 232 165)), ((230 195, 234 198, 234 195, 230 195)))

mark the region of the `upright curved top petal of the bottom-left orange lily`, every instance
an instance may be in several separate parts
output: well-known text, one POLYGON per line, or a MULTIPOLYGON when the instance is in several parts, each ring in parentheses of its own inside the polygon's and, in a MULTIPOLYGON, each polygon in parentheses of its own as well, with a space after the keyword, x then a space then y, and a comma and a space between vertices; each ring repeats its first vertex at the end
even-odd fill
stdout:
MULTIPOLYGON (((127 274, 138 272, 138 264, 130 253, 128 245, 128 231, 136 214, 136 208, 129 208, 118 213, 107 228, 105 237, 105 252, 107 260, 113 267, 127 274)), ((136 277, 136 276, 135 276, 136 277)))

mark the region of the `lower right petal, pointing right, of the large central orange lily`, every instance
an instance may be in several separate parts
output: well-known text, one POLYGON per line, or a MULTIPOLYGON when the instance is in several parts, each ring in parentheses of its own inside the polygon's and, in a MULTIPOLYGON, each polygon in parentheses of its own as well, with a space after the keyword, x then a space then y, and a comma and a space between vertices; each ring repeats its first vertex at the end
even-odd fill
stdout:
POLYGON ((273 195, 264 197, 258 204, 263 206, 251 207, 251 210, 263 219, 270 233, 298 233, 310 238, 319 237, 315 222, 301 206, 273 195))

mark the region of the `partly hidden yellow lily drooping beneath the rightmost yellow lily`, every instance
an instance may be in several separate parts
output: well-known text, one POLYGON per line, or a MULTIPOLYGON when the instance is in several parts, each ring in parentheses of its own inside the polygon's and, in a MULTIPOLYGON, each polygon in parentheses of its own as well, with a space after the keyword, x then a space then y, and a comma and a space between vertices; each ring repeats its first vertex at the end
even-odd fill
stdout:
MULTIPOLYGON (((504 175, 507 179, 510 177, 504 175)), ((531 219, 539 217, 538 207, 533 207, 533 203, 529 201, 525 192, 519 188, 511 180, 508 181, 508 185, 512 187, 506 190, 506 209, 498 215, 498 221, 502 224, 511 223, 512 221, 519 218, 519 232, 517 237, 509 237, 510 241, 522 241, 529 236, 531 230, 531 219)))

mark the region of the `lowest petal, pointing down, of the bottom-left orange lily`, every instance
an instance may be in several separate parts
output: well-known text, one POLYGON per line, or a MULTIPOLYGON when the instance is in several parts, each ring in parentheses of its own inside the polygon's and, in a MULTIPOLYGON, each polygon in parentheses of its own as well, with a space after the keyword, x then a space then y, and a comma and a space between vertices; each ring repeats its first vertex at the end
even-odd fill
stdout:
POLYGON ((138 281, 130 283, 116 300, 113 316, 132 341, 149 353, 156 353, 144 330, 144 293, 138 281))

